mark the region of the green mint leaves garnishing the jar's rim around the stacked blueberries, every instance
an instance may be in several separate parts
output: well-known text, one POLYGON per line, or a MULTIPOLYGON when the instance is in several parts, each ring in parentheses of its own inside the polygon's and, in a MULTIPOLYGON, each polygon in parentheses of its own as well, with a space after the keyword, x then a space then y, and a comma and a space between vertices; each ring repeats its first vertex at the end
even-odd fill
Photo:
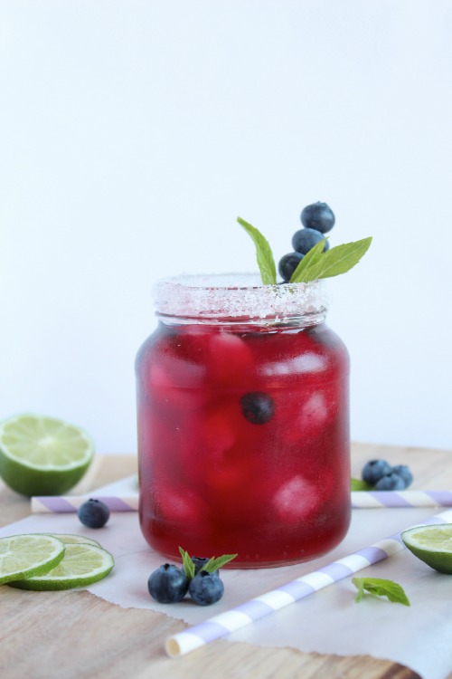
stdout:
MULTIPOLYGON (((277 273, 273 253, 267 239, 259 230, 245 222, 241 217, 237 221, 245 231, 250 234, 255 246, 259 265, 260 277, 264 285, 276 285, 277 273)), ((345 243, 330 248, 325 253, 325 239, 317 243, 303 257, 297 269, 292 275, 290 282, 311 282, 319 278, 331 278, 341 273, 346 273, 353 268, 368 251, 372 243, 372 236, 363 238, 361 241, 345 243)))

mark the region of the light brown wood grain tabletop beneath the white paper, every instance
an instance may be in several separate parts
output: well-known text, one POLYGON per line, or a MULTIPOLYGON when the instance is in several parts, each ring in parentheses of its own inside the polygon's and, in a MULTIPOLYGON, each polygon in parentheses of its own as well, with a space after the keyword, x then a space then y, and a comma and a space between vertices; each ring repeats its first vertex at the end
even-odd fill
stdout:
MULTIPOLYGON (((352 473, 382 457, 409 464, 414 488, 452 489, 452 451, 353 444, 352 473)), ((72 493, 137 470, 135 455, 98 455, 72 493)), ((30 513, 30 502, 0 482, 0 525, 30 513)), ((181 620, 155 611, 121 608, 85 590, 28 592, 0 587, 0 676, 8 679, 415 679, 419 674, 372 655, 306 654, 218 640, 177 660, 166 657, 167 636, 181 620)), ((452 670, 452 668, 451 668, 452 670)), ((452 679, 452 672, 447 679, 452 679)))

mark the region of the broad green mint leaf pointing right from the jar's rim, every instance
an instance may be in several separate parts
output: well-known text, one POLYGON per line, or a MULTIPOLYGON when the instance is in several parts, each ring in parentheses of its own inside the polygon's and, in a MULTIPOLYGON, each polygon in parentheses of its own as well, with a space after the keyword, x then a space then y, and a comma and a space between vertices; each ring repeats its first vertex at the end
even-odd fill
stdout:
POLYGON ((321 241, 303 257, 290 282, 311 282, 318 278, 331 278, 346 273, 361 260, 371 243, 372 236, 361 241, 336 245, 324 253, 321 241))

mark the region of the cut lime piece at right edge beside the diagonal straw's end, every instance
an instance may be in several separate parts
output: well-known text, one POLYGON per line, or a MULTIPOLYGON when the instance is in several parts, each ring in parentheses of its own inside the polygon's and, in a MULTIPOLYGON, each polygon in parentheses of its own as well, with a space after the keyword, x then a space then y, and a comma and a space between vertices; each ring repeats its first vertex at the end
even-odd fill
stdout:
POLYGON ((407 549, 430 568, 452 573, 452 524, 416 526, 400 534, 407 549))

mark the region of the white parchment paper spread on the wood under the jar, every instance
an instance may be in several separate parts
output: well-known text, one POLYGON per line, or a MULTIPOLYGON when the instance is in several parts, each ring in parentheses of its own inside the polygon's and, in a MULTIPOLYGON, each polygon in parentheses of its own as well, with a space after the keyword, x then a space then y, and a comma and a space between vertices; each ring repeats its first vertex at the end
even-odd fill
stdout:
MULTIPOLYGON (((127 479, 91 495, 130 493, 134 485, 133 479, 127 479)), ((108 578, 88 588, 90 592, 120 607, 149 608, 194 625, 439 512, 438 508, 353 510, 347 537, 322 559, 278 569, 223 569, 225 594, 212 607, 196 606, 190 598, 163 605, 149 597, 147 579, 165 559, 142 537, 137 512, 113 513, 107 526, 99 530, 82 526, 76 513, 35 514, 0 529, 0 537, 33 531, 70 532, 99 540, 114 555, 116 565, 108 578)), ((370 596, 356 604, 352 579, 344 579, 228 638, 321 654, 373 655, 408 665, 424 679, 445 679, 452 671, 452 576, 429 569, 408 550, 356 575, 399 582, 411 606, 370 596)), ((164 642, 162 639, 162 645, 164 642)))

